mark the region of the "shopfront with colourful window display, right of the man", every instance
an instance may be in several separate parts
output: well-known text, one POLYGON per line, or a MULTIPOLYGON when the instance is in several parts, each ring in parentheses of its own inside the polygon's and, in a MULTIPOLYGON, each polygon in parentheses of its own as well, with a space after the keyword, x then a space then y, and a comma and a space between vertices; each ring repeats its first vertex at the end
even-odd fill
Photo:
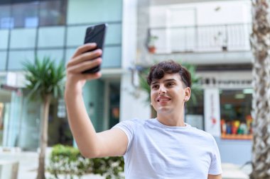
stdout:
POLYGON ((252 73, 208 71, 200 76, 203 98, 188 107, 185 118, 215 137, 222 162, 244 165, 252 157, 252 73))

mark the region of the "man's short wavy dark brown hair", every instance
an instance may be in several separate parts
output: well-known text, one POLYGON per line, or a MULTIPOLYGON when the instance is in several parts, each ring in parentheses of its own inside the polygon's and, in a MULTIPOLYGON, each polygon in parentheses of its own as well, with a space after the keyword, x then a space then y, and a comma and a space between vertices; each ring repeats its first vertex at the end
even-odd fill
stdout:
POLYGON ((191 76, 188 69, 185 69, 182 65, 174 62, 173 60, 168 60, 164 62, 159 62, 154 64, 149 71, 147 76, 147 83, 151 85, 152 81, 155 79, 162 79, 164 74, 179 74, 185 87, 191 87, 191 76))

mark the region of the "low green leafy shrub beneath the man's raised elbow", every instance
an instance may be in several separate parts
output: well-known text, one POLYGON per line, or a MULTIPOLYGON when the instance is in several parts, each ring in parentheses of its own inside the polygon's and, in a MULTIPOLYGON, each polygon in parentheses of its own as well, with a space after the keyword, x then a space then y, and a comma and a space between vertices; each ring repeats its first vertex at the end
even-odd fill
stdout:
POLYGON ((53 178, 65 175, 65 178, 80 178, 87 173, 104 175, 106 179, 123 178, 123 157, 84 158, 77 148, 56 145, 49 158, 48 171, 53 178))

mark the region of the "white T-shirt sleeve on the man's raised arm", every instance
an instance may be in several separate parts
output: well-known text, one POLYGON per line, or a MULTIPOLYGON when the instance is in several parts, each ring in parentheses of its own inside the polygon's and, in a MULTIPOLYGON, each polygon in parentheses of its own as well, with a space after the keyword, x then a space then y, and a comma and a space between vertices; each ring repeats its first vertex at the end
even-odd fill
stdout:
POLYGON ((129 148, 132 144, 132 140, 134 138, 135 130, 136 130, 136 120, 124 120, 122 122, 119 122, 117 125, 115 125, 112 128, 119 128, 124 131, 126 134, 129 142, 126 146, 126 152, 129 151, 129 148))

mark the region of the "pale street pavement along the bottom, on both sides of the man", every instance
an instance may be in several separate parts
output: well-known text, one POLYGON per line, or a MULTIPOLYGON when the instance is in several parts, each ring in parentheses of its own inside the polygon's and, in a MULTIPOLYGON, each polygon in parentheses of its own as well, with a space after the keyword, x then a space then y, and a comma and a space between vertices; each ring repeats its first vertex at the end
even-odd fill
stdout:
MULTIPOLYGON (((46 163, 48 163, 48 156, 50 154, 50 148, 46 151, 46 163)), ((35 179, 38 168, 38 153, 33 151, 20 151, 19 149, 13 149, 11 151, 0 150, 0 161, 18 161, 18 178, 17 179, 35 179)), ((1 168, 0 168, 1 169, 1 168)), ((248 174, 252 168, 250 165, 240 168, 232 163, 222 163, 222 179, 248 179, 248 174)), ((51 178, 49 173, 46 173, 46 178, 51 178)), ((60 177, 65 178, 64 176, 60 177)), ((1 170, 0 170, 0 179, 1 170)), ((104 179, 100 175, 83 175, 81 179, 104 179)))

